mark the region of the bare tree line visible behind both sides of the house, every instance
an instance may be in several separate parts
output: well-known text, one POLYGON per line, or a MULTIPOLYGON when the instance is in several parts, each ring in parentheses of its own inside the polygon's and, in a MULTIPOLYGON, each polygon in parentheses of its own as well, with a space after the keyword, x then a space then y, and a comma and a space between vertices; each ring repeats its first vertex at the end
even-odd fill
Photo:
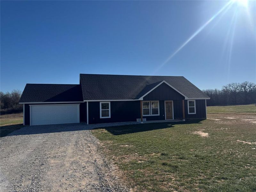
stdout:
MULTIPOLYGON (((256 102, 256 84, 245 81, 243 83, 230 83, 219 89, 202 90, 206 95, 211 97, 207 100, 207 106, 215 105, 243 105, 256 102)), ((20 90, 12 92, 0 92, 1 115, 10 113, 20 113, 23 106, 19 104, 20 90)))

